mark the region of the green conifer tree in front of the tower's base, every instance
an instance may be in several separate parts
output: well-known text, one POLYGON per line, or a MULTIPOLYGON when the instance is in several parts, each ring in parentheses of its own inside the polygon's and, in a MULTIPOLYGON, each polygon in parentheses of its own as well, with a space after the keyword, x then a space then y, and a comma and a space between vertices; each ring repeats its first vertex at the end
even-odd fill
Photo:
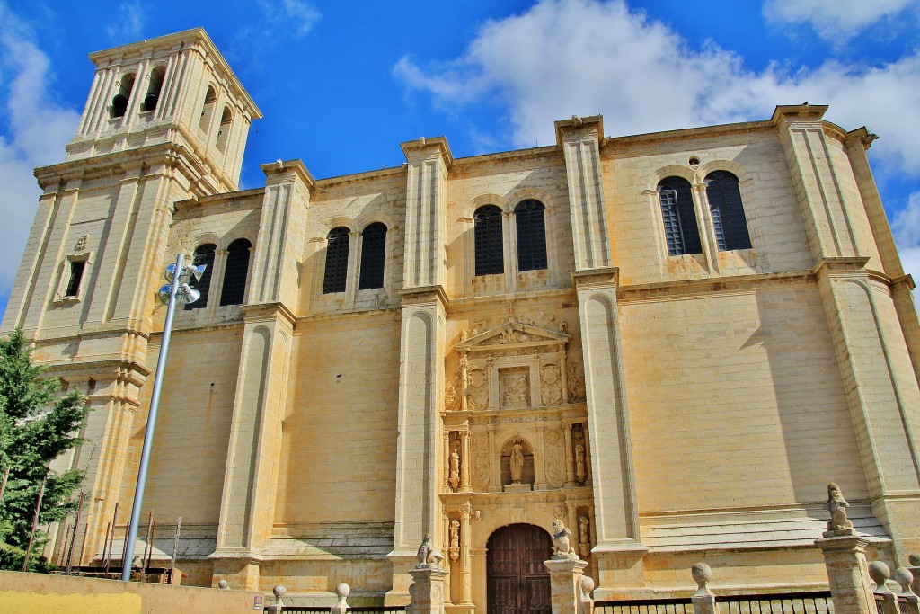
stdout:
MULTIPOLYGON (((75 507, 74 493, 83 479, 79 470, 49 469, 82 440, 76 436, 89 408, 79 391, 59 395, 56 377, 42 377, 44 368, 32 364, 32 349, 21 330, 0 339, 0 478, 9 469, 0 501, 0 569, 22 569, 29 544, 42 478, 48 475, 39 525, 63 520, 75 507)), ((29 569, 48 563, 34 552, 47 536, 36 532, 29 569)))

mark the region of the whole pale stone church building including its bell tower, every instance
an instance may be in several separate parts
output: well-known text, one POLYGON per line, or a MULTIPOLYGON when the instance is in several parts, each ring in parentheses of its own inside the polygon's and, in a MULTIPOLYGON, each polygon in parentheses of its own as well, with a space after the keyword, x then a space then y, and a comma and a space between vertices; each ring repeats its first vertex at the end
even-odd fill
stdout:
POLYGON ((143 517, 167 552, 182 517, 186 583, 401 604, 431 534, 450 611, 485 612, 561 519, 598 598, 683 594, 700 560, 723 593, 805 589, 828 481, 878 558, 920 550, 920 326, 864 128, 572 118, 555 145, 420 138, 399 168, 279 160, 239 191, 260 113, 203 30, 90 59, 3 321, 94 408, 60 459, 86 470, 82 563, 129 514, 179 252, 208 272, 143 517))

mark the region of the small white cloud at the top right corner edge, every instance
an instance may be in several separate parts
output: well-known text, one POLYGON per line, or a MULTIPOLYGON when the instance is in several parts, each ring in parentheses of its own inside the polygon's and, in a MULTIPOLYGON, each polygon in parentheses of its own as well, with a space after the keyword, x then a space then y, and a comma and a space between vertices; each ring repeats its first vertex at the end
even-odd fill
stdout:
POLYGON ((894 17, 917 0, 765 0, 771 21, 809 23, 826 41, 843 44, 880 19, 894 17))

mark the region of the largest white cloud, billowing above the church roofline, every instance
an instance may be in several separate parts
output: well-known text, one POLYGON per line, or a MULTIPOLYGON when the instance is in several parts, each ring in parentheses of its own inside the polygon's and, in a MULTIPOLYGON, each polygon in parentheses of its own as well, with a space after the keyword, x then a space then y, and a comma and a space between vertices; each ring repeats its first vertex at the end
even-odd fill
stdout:
POLYGON ((845 129, 878 133, 873 155, 892 170, 920 172, 920 51, 880 66, 755 73, 714 44, 691 49, 622 0, 545 0, 490 21, 453 61, 404 57, 394 74, 439 106, 498 96, 516 146, 552 143, 553 122, 573 114, 603 114, 606 133, 622 135, 762 120, 809 100, 845 129))

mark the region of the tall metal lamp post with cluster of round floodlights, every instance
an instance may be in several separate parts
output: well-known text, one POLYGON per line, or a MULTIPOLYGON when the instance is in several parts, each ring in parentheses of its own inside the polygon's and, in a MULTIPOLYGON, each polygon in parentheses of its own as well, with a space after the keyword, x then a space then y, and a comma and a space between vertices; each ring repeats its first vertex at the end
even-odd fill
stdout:
MULTIPOLYGON (((137 539, 137 527, 141 521, 141 506, 144 504, 144 485, 147 482, 147 467, 150 464, 150 449, 154 441, 154 428, 156 426, 156 410, 160 404, 160 389, 163 387, 163 373, 169 352, 169 338, 172 336, 172 323, 176 315, 176 303, 194 303, 201 297, 198 290, 190 287, 189 281, 201 279, 204 265, 185 264, 185 256, 178 255, 176 264, 170 264, 166 269, 166 278, 169 284, 162 286, 157 293, 160 300, 167 305, 167 321, 163 325, 163 342, 160 344, 160 356, 156 361, 156 374, 154 376, 154 390, 150 398, 150 411, 147 413, 147 427, 144 431, 144 448, 141 451, 141 467, 137 471, 137 487, 134 489, 134 503, 131 510, 131 524, 128 526, 128 536, 125 538, 124 560, 121 562, 121 580, 131 580, 131 563, 134 559, 134 540, 137 539)), ((114 528, 113 528, 114 530, 114 528)))

